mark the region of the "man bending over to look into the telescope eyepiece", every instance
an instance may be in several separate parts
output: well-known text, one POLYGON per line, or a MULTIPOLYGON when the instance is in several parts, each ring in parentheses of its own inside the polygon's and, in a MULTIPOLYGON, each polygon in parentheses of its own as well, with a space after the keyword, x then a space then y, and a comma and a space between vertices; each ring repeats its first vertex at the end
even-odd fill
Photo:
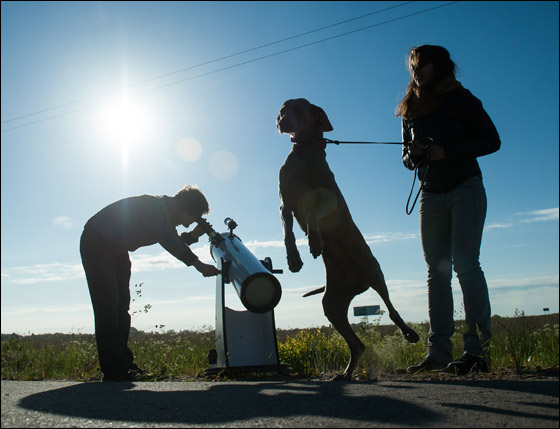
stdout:
POLYGON ((128 252, 155 243, 194 266, 204 277, 219 270, 202 263, 188 247, 204 234, 197 225, 177 234, 210 211, 197 188, 185 186, 175 196, 141 195, 108 205, 85 225, 80 253, 95 316, 95 338, 102 381, 125 381, 143 372, 128 348, 130 331, 130 258, 128 252))

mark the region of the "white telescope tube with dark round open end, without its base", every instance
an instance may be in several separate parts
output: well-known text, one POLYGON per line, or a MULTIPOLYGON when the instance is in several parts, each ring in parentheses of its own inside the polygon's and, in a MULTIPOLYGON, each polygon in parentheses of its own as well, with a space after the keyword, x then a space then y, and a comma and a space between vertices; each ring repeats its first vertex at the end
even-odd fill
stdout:
POLYGON ((274 309, 282 296, 278 279, 236 235, 231 232, 220 235, 223 240, 219 243, 213 240, 210 254, 216 263, 221 262, 225 282, 233 284, 247 310, 266 313, 274 309))

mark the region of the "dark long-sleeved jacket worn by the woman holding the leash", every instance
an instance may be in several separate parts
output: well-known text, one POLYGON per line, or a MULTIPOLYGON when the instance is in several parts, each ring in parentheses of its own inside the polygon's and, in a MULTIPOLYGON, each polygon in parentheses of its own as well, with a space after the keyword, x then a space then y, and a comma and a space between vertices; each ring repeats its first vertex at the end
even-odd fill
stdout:
POLYGON ((403 119, 403 142, 419 142, 431 137, 433 144, 443 146, 445 159, 426 162, 421 156, 409 156, 403 145, 406 168, 418 167, 423 190, 432 193, 449 192, 466 179, 482 176, 477 157, 500 149, 500 136, 478 98, 468 89, 451 91, 441 105, 431 113, 414 119, 403 119))

